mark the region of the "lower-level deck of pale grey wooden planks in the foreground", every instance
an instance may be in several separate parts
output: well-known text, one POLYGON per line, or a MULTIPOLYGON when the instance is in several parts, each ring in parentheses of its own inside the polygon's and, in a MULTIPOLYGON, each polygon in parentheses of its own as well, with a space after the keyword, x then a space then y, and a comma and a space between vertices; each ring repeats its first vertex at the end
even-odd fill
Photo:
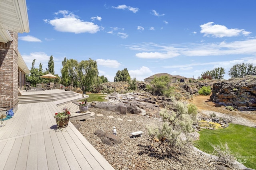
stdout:
POLYGON ((102 155, 68 123, 56 128, 54 102, 19 104, 0 127, 1 170, 112 170, 102 155))

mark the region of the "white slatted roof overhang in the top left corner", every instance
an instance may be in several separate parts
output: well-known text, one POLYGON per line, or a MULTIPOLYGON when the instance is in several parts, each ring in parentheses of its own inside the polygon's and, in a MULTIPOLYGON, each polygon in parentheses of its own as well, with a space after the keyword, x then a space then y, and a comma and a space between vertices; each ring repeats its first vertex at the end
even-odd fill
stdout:
POLYGON ((29 32, 26 0, 0 0, 0 42, 12 41, 9 31, 29 32))

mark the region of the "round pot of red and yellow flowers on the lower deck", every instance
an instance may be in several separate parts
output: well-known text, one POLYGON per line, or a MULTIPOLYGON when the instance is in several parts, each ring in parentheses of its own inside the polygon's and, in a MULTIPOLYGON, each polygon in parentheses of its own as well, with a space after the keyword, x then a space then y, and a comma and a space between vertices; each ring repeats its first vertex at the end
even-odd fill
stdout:
POLYGON ((69 110, 70 108, 68 109, 68 107, 64 107, 62 108, 62 112, 55 113, 54 118, 56 119, 58 129, 68 126, 68 121, 70 117, 69 110))

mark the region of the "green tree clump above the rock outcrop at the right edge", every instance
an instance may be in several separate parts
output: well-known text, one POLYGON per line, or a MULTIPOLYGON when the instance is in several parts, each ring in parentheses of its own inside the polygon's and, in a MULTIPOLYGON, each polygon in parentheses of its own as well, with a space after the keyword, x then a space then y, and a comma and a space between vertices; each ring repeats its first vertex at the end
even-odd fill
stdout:
POLYGON ((243 78, 251 74, 256 74, 256 66, 247 63, 235 64, 228 71, 228 75, 232 78, 243 78))

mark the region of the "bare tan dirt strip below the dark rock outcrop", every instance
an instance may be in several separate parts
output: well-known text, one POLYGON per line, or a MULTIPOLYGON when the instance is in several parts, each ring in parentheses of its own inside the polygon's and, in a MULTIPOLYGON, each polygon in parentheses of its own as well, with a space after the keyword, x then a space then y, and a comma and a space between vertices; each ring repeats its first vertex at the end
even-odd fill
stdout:
POLYGON ((218 117, 230 117, 233 115, 232 123, 256 127, 256 111, 229 111, 225 106, 209 101, 210 96, 194 96, 190 103, 195 104, 199 110, 199 116, 209 116, 216 113, 218 117))

